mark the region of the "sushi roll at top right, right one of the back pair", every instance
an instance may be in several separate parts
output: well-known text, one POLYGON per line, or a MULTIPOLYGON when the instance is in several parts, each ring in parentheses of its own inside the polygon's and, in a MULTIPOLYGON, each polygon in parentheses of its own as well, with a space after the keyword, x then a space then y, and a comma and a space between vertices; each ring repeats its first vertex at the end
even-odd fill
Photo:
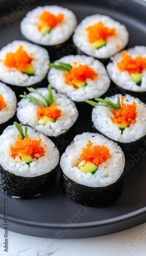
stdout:
POLYGON ((72 39, 79 53, 107 59, 126 47, 129 33, 109 16, 94 14, 82 20, 72 39))

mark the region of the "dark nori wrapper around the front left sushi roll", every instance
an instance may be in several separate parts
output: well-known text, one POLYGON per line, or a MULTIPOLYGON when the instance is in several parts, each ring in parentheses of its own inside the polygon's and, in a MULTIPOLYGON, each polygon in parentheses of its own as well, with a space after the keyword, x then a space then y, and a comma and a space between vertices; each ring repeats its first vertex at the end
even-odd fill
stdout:
POLYGON ((32 199, 49 188, 56 177, 56 168, 36 177, 22 177, 8 172, 0 165, 0 189, 12 197, 32 199))

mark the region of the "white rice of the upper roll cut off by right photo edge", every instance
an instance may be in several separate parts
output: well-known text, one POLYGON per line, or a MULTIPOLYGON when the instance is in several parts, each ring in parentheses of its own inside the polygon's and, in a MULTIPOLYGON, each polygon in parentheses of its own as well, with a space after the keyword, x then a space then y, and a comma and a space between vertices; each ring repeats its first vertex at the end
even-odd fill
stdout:
MULTIPOLYGON (((126 50, 127 54, 131 55, 132 58, 136 58, 139 56, 142 56, 146 58, 146 47, 145 46, 135 46, 134 48, 130 48, 126 50)), ((131 75, 128 73, 128 71, 120 71, 120 69, 117 67, 117 63, 119 63, 122 60, 122 52, 114 55, 111 57, 111 61, 107 65, 107 71, 109 73, 109 76, 111 80, 117 84, 117 86, 134 91, 134 92, 145 92, 146 91, 146 70, 143 70, 142 72, 142 80, 141 85, 137 86, 137 84, 134 82, 131 75)))

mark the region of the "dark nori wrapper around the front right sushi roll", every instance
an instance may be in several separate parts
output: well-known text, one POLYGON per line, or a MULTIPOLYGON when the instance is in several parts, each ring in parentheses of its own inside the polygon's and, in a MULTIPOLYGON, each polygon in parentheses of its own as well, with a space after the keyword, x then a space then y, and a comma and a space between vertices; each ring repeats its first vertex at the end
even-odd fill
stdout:
POLYGON ((63 173, 60 181, 62 189, 69 199, 79 204, 94 207, 109 205, 119 197, 123 189, 124 176, 121 175, 116 182, 104 187, 79 184, 63 173))

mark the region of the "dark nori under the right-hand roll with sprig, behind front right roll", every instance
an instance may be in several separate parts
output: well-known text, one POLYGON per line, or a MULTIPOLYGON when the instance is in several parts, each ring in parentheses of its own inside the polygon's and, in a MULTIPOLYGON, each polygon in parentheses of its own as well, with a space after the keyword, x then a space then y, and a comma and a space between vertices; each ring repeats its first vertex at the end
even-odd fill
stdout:
POLYGON ((139 138, 138 140, 135 140, 135 141, 120 142, 120 141, 113 140, 110 137, 106 136, 105 134, 101 133, 98 129, 96 129, 93 122, 92 122, 92 131, 95 132, 95 133, 102 134, 105 137, 107 137, 108 139, 116 142, 121 147, 121 149, 123 150, 126 159, 129 158, 129 154, 136 153, 139 150, 139 148, 145 148, 146 135, 139 138))

